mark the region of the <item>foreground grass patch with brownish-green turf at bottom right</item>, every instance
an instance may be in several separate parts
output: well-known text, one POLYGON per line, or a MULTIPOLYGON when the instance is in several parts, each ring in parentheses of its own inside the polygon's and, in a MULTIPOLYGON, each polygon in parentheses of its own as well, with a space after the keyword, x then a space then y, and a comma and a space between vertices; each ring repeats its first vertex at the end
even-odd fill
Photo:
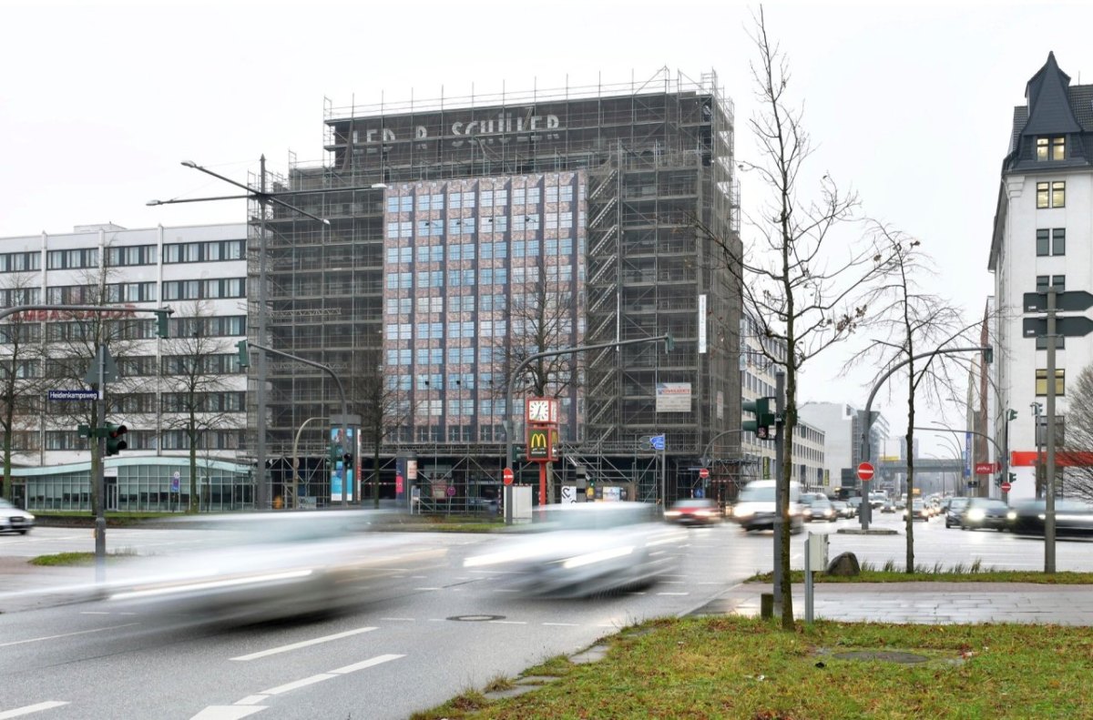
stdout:
POLYGON ((468 692, 413 717, 1093 717, 1085 687, 1093 629, 1085 627, 820 622, 784 632, 762 619, 708 616, 646 623, 604 644, 599 662, 556 658, 528 670, 556 680, 526 695, 468 692))

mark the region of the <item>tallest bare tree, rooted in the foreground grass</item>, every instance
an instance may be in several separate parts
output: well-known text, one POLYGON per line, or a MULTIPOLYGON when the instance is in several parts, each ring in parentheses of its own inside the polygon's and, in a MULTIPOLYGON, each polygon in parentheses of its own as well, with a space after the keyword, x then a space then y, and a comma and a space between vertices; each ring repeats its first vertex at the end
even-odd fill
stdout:
MULTIPOLYGON (((760 158, 740 167, 756 176, 769 197, 756 216, 745 216, 755 239, 745 243, 742 252, 708 226, 698 223, 698 229, 720 247, 729 271, 740 283, 744 305, 759 324, 763 353, 785 369, 781 473, 791 477, 799 375, 809 361, 869 321, 863 298, 889 271, 889 263, 872 238, 849 226, 857 220, 855 193, 844 194, 834 179, 823 175, 819 197, 803 199, 807 161, 812 152, 803 113, 789 104, 788 61, 767 33, 762 8, 754 21, 752 39, 757 59, 751 70, 760 109, 749 127, 759 142, 760 158), (839 233, 843 228, 847 232, 839 233), (773 352, 775 345, 785 347, 785 358, 773 352)), ((781 514, 781 553, 776 560, 781 570, 781 624, 789 629, 794 627, 794 609, 788 483, 780 484, 777 501, 781 514)))

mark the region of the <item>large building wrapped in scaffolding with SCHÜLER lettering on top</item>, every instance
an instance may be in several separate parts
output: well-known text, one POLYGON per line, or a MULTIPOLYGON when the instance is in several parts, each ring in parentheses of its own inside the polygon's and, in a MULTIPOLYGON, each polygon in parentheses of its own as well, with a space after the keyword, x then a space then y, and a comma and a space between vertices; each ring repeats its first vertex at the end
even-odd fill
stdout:
MULTIPOLYGON (((326 162, 257 178, 271 196, 250 212, 249 327, 340 375, 363 418, 354 477, 371 483, 378 464, 384 496, 402 482, 423 501, 491 496, 509 383, 517 442, 525 394, 560 399, 555 498, 562 486, 690 496, 718 480, 700 479, 704 458, 740 457, 726 432, 740 424, 739 201, 716 75, 328 103, 325 115, 326 162), (533 352, 665 334, 667 352, 602 347, 512 376, 533 352), (383 391, 369 394, 376 377, 383 391), (383 422, 369 423, 377 409, 383 422)), ((329 497, 338 383, 271 358, 252 379, 268 388, 248 393, 250 447, 272 468, 267 500, 329 497), (324 429, 301 433, 310 418, 324 429)))

